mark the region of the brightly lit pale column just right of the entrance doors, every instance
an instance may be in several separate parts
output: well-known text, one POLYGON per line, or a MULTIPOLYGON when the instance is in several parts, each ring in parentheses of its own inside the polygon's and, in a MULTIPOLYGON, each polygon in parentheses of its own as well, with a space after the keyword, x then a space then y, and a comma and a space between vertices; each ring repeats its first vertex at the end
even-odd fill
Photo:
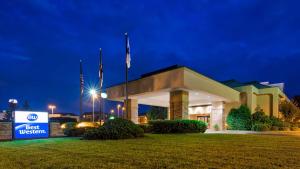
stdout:
POLYGON ((218 125, 220 130, 224 129, 223 115, 224 115, 223 102, 213 102, 212 110, 211 110, 211 125, 210 125, 211 129, 215 130, 215 125, 218 125))

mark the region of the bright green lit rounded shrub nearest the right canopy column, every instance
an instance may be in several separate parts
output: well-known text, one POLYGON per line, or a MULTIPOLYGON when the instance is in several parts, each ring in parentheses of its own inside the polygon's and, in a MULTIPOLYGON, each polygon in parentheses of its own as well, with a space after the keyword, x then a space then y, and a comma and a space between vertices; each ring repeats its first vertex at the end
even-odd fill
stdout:
POLYGON ((245 105, 238 109, 231 109, 226 122, 230 130, 250 130, 251 129, 251 112, 245 105))

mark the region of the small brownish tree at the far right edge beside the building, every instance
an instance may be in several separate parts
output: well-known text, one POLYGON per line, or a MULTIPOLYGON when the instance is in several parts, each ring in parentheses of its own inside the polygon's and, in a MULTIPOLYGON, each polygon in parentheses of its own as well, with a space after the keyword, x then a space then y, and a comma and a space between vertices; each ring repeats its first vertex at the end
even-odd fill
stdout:
POLYGON ((299 117, 300 110, 291 101, 283 101, 279 105, 279 110, 285 121, 292 122, 297 117, 299 117))

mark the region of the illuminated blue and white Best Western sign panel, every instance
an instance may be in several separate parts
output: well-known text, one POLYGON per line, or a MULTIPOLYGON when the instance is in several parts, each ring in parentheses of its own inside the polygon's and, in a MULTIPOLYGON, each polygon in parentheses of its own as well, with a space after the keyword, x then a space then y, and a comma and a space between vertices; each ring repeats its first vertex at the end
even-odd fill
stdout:
POLYGON ((16 139, 48 137, 48 112, 15 111, 14 129, 16 139))

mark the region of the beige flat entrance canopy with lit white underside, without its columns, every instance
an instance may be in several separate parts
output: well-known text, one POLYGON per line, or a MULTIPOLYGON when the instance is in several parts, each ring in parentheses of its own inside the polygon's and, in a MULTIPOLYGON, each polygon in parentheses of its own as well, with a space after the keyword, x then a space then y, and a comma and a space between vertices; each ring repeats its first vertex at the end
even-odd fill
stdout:
MULTIPOLYGON (((138 104, 169 107, 170 92, 176 90, 188 92, 189 106, 239 102, 240 92, 182 66, 144 74, 128 83, 129 99, 138 104)), ((107 94, 110 100, 124 101, 125 84, 108 88, 107 94)))

